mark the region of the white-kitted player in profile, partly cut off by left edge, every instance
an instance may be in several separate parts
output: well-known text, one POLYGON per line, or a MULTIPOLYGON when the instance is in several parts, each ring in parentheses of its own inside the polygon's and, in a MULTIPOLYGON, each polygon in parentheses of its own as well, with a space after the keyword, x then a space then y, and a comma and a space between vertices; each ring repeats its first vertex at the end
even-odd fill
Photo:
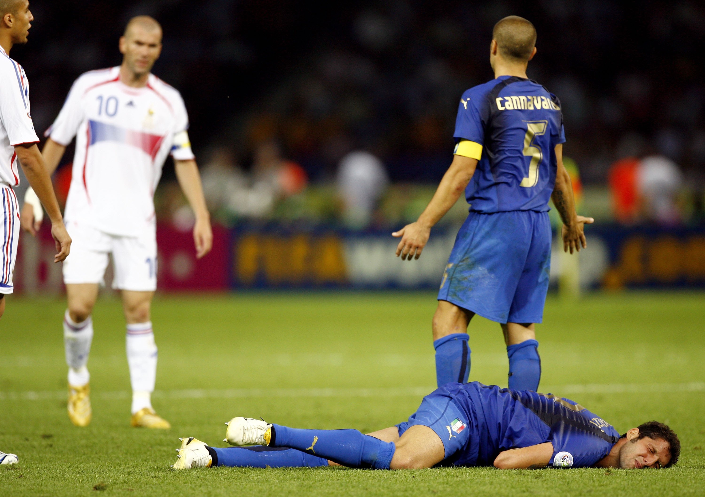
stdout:
MULTIPOLYGON (((5 312, 5 295, 13 292, 12 273, 15 267, 20 235, 20 216, 13 187, 20 184, 18 163, 30 185, 37 192, 51 219, 51 235, 56 241, 54 262, 66 259, 71 250, 71 237, 66 233, 59 203, 54 196, 51 178, 44 168, 44 159, 37 148, 30 114, 30 87, 25 70, 10 59, 14 44, 27 43, 34 17, 27 0, 0 0, 0 318, 5 312)), ((0 328, 2 331, 10 331, 0 328)), ((0 367, 2 364, 0 363, 0 367)), ((0 409, 0 417, 6 412, 0 409)), ((18 461, 16 454, 0 452, 0 465, 18 461)))

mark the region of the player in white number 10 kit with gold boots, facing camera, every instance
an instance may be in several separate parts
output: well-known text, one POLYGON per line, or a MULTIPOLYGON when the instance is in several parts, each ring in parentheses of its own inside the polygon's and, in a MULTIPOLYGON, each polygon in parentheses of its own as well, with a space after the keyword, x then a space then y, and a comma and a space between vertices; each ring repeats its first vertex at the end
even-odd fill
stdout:
MULTIPOLYGON (((133 388, 133 427, 169 428, 154 412, 157 374, 150 305, 157 288, 154 189, 171 154, 176 177, 195 211, 196 256, 211 250, 212 232, 201 179, 188 139, 188 116, 177 90, 150 73, 161 51, 156 20, 133 18, 120 39, 121 66, 85 73, 73 83, 44 146, 52 173, 76 139, 73 178, 66 200, 66 226, 74 252, 63 264, 68 309, 63 333, 68 363, 68 416, 90 423, 90 375, 86 367, 93 337, 91 312, 112 254, 113 287, 122 291, 127 355, 133 388)), ((30 192, 31 197, 31 192, 30 192)), ((37 209, 25 202, 23 227, 34 232, 37 209)))

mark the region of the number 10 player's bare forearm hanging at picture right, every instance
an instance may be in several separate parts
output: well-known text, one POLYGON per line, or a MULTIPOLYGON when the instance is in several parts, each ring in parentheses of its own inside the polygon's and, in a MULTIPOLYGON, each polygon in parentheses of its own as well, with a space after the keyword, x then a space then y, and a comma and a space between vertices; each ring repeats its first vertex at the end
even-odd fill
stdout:
POLYGON ((193 159, 186 161, 174 159, 174 168, 176 169, 178 184, 196 215, 196 223, 193 226, 193 240, 196 244, 196 258, 200 259, 210 252, 213 246, 211 216, 208 213, 206 198, 203 195, 201 175, 198 172, 196 161, 193 159))

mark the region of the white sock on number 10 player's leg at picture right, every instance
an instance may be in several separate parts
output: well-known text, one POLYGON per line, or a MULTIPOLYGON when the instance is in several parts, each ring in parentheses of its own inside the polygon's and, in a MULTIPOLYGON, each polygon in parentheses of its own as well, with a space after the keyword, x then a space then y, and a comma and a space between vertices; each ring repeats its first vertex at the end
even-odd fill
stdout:
POLYGON ((132 413, 152 407, 150 400, 157 377, 157 344, 152 322, 128 324, 126 337, 130 383, 133 388, 132 413))

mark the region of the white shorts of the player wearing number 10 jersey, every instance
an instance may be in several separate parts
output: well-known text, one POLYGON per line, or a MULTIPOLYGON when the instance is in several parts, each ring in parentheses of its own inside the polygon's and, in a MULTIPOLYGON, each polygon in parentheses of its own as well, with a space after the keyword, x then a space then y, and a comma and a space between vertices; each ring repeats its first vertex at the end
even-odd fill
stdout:
POLYGON ((157 290, 157 231, 154 225, 139 236, 110 235, 85 223, 69 221, 71 254, 63 262, 63 283, 104 284, 108 255, 113 256, 113 288, 157 290))

